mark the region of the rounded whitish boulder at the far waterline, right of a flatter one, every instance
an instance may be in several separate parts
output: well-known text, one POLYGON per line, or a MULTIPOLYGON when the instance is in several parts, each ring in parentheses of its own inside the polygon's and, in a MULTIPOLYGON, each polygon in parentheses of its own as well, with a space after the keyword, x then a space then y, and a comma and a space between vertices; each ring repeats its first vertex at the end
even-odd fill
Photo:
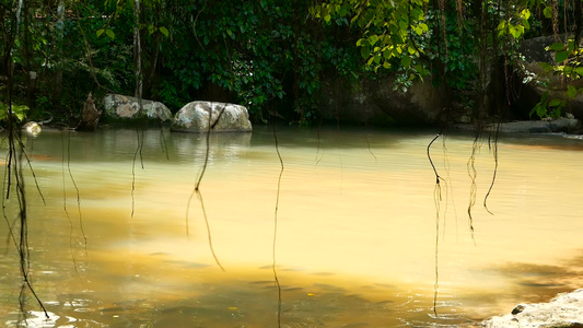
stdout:
POLYGON ((180 132, 250 132, 249 114, 245 106, 218 103, 193 102, 186 104, 172 121, 171 129, 180 132))

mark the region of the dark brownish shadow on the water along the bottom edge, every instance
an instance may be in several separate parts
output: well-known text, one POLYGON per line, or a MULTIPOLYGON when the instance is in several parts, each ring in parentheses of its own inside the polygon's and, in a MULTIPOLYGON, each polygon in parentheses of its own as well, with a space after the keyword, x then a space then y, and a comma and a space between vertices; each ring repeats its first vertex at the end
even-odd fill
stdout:
MULTIPOLYGON (((306 272, 287 272, 280 276, 289 282, 281 285, 281 327, 421 327, 430 323, 455 327, 467 323, 455 313, 459 304, 453 296, 441 306, 445 314, 432 318, 427 312, 431 290, 411 294, 392 285, 358 281, 346 288, 334 277, 314 282, 317 279, 306 272), (376 297, 370 297, 371 292, 376 297)), ((19 327, 275 327, 273 281, 253 280, 245 273, 231 278, 185 285, 193 295, 178 300, 106 301, 91 291, 58 294, 46 302, 49 319, 33 311, 28 326, 19 327)), ((8 327, 16 327, 15 316, 1 319, 8 327)))

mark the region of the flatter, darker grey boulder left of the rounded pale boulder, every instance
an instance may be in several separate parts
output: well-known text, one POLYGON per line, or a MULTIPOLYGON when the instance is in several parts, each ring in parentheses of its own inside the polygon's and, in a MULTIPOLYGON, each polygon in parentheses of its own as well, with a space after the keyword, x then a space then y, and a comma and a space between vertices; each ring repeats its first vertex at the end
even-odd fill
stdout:
POLYGON ((150 119, 166 121, 172 119, 172 112, 160 102, 142 99, 140 113, 138 98, 120 94, 107 94, 103 98, 105 115, 114 119, 150 119))

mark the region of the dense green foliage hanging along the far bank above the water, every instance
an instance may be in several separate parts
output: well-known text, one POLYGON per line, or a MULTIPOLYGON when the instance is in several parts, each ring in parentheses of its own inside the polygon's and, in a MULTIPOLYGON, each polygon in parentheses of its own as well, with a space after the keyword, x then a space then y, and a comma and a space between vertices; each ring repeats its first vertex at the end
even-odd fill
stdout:
MULTIPOLYGON (((13 71, 28 117, 63 121, 89 92, 135 94, 143 81, 142 96, 173 112, 208 98, 245 104, 256 121, 277 108, 308 122, 325 81, 374 74, 401 91, 431 77, 474 117, 501 115, 520 40, 561 33, 575 36, 550 50, 567 61, 546 69, 581 75, 579 0, 0 0, 0 102, 13 71)), ((564 102, 545 96, 533 113, 557 116, 564 102)))

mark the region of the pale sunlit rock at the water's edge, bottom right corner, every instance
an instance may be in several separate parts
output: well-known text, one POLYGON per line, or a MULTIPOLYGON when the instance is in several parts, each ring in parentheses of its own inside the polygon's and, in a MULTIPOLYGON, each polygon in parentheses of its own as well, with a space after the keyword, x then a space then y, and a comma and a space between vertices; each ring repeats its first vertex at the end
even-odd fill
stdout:
POLYGON ((559 294, 549 303, 521 304, 512 314, 485 320, 481 327, 583 327, 583 289, 559 294))

